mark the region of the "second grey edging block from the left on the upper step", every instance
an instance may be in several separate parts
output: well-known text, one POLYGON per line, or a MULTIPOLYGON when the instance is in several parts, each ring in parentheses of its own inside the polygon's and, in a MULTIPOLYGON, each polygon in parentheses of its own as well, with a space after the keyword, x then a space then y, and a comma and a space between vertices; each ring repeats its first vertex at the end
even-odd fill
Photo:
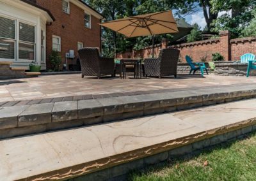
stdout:
POLYGON ((52 122, 52 108, 54 103, 31 105, 18 117, 18 126, 32 126, 52 122))

